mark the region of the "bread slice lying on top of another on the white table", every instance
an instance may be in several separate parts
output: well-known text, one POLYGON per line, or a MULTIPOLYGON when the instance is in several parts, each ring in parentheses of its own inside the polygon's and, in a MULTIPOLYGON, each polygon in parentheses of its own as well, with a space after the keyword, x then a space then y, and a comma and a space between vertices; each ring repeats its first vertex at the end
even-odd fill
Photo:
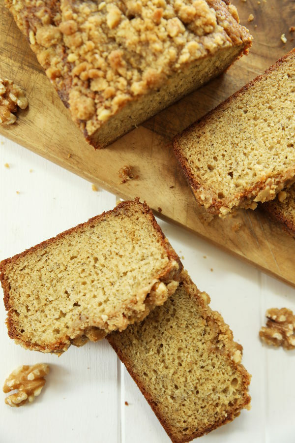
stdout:
POLYGON ((142 320, 175 292, 181 263, 146 204, 120 203, 1 261, 9 336, 60 353, 142 320))

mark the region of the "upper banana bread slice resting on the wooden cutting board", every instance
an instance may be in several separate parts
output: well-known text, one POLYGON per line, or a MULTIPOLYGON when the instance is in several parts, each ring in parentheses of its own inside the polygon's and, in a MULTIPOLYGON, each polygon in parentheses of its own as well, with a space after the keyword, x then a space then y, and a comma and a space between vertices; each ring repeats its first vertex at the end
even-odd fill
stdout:
POLYGON ((197 201, 224 216, 295 181, 295 50, 187 128, 175 153, 197 201))

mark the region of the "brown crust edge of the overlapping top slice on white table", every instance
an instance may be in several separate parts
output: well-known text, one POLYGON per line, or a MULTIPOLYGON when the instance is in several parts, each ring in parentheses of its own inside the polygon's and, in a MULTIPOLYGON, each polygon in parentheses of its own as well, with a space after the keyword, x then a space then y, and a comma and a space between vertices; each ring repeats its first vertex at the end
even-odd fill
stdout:
MULTIPOLYGON (((179 273, 181 272, 182 269, 182 263, 178 257, 178 255, 176 254, 176 252, 173 250, 173 248, 171 247, 170 243, 168 242, 167 238, 165 237, 161 227, 158 225, 158 223, 156 222, 154 215, 152 213, 152 211, 150 210, 150 208, 148 207, 147 203, 144 201, 144 203, 141 203, 139 201, 139 197, 136 197, 134 199, 134 201, 123 201, 121 203, 118 204, 118 206, 116 206, 113 210, 107 211, 107 212, 103 212, 102 214, 92 217, 91 219, 89 219, 88 221, 84 222, 84 223, 80 223, 77 226, 74 226, 70 229, 67 229, 66 231, 63 231, 61 233, 59 233, 57 236, 52 237, 48 240, 45 240, 44 242, 39 243, 38 245, 35 245, 29 249, 27 249, 26 251, 22 252, 22 253, 18 253, 12 257, 6 258, 4 260, 2 260, 0 262, 0 283, 2 285, 3 288, 3 301, 4 301, 4 306, 5 306, 5 310, 7 311, 7 318, 6 318, 6 325, 7 325, 7 329, 8 329, 8 335, 11 339, 15 340, 17 343, 21 344, 24 348, 27 349, 31 349, 31 350, 39 350, 41 352, 53 352, 53 353, 60 353, 62 352, 64 349, 64 342, 62 340, 55 342, 51 348, 49 348, 48 346, 40 346, 40 345, 36 345, 36 344, 32 344, 28 341, 25 341, 22 339, 22 336, 18 333, 18 331, 15 328, 12 316, 11 316, 11 311, 13 310, 13 307, 11 306, 10 303, 10 299, 9 299, 9 282, 8 279, 6 279, 5 275, 6 275, 6 267, 7 264, 9 263, 15 263, 19 258, 25 257, 27 254, 32 253, 32 252, 36 252, 40 249, 43 249, 44 247, 46 248, 46 246, 55 243, 56 241, 58 241, 59 239, 65 237, 66 235, 70 235, 72 233, 78 232, 81 228, 83 228, 84 226, 88 226, 90 225, 92 222, 96 222, 96 221, 100 221, 102 218, 104 218, 105 216, 111 215, 111 214, 120 214, 122 210, 127 210, 130 206, 132 206, 133 204, 136 205, 140 205, 142 208, 142 212, 143 214, 147 215, 150 222, 153 225, 153 228, 156 230, 156 232, 159 234, 160 237, 160 241, 161 241, 161 245, 162 247, 166 250, 167 256, 169 258, 169 264, 166 267, 166 269, 164 269, 158 276, 157 278, 160 281, 165 282, 166 280, 169 279, 170 274, 173 270, 173 266, 172 266, 172 262, 173 261, 177 261, 178 266, 179 266, 179 270, 177 271, 177 273, 174 275, 174 278, 177 279, 179 276, 179 273)), ((72 340, 72 342, 75 339, 72 340)))

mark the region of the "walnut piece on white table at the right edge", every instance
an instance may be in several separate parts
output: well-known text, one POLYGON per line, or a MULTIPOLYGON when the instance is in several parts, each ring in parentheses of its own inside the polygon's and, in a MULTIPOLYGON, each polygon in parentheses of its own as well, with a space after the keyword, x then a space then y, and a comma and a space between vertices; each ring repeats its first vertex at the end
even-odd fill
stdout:
POLYGON ((271 308, 266 311, 266 327, 260 329, 260 338, 272 346, 295 349, 295 315, 290 309, 271 308))

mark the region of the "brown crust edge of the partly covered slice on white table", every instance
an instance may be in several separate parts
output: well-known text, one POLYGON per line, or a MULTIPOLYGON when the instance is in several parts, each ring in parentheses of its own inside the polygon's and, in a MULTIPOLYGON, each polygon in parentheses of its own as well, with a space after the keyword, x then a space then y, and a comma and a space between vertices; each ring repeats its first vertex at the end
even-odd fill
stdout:
POLYGON ((195 298, 196 302, 200 305, 202 305, 202 309, 204 310, 204 317, 206 318, 206 320, 208 322, 213 322, 214 324, 218 324, 220 330, 219 332, 222 332, 224 335, 228 336, 229 338, 229 344, 226 345, 227 349, 227 356, 229 358, 229 362, 232 365, 233 368, 235 368, 237 371, 239 371, 241 377, 242 377, 242 384, 243 384, 243 393, 244 393, 244 398, 243 398, 243 403, 242 405, 240 405, 237 410, 229 407, 229 410, 226 411, 226 416, 224 416, 223 419, 221 420, 217 420, 214 425, 208 425, 205 426, 203 429, 198 429, 197 432, 191 434, 190 436, 184 436, 183 438, 179 438, 179 436, 176 434, 175 429, 173 429, 171 427, 171 425, 169 424, 169 422, 166 420, 165 416, 162 414, 162 412, 160 411, 160 409, 158 408, 156 402, 154 401, 152 395, 148 392, 148 390, 145 388, 144 384, 141 381, 141 375, 139 374, 135 374, 133 369, 132 369, 132 361, 128 360, 128 357, 126 358, 126 355, 123 355, 123 352, 121 349, 119 349, 116 346, 116 340, 112 339, 112 335, 109 335, 107 337, 108 342, 110 343, 110 345, 114 348, 114 350, 116 351, 119 359, 121 360, 121 362, 125 365, 127 371, 129 372, 129 374, 131 375, 131 377, 133 378, 133 380, 136 382, 137 386, 139 387, 139 389, 141 390, 142 394, 144 395, 144 397, 146 398, 146 400, 148 401, 149 406, 151 407, 151 409, 153 410, 153 412, 156 414, 158 420, 160 421, 161 425, 163 426, 163 428, 165 429, 165 431, 167 432, 168 436, 170 437, 171 441, 173 443, 185 443, 185 442, 189 442, 197 437, 201 437, 204 434, 207 434, 211 431, 213 431, 214 429, 218 428, 219 426, 222 426, 226 423, 229 423, 230 421, 234 420, 234 418, 239 415, 240 410, 243 408, 247 408, 247 406, 250 404, 251 401, 251 397, 249 396, 247 390, 248 390, 248 385, 250 384, 250 380, 251 377, 250 375, 247 373, 246 369, 244 368, 243 365, 241 364, 236 364, 232 358, 231 358, 231 344, 233 344, 235 346, 236 349, 239 349, 239 351, 242 351, 242 347, 238 344, 236 344, 235 342, 233 342, 233 334, 232 331, 230 330, 230 328, 228 327, 228 325, 226 325, 223 321, 223 318, 220 316, 219 313, 211 311, 207 308, 207 305, 204 301, 204 299, 200 296, 200 293, 197 289, 197 287, 193 284, 193 282, 191 281, 190 277, 188 276, 187 272, 185 270, 183 270, 181 272, 180 275, 180 285, 183 284, 185 287, 186 292, 190 295, 191 298, 195 298), (189 291, 189 286, 192 287, 193 286, 193 291, 189 291))

